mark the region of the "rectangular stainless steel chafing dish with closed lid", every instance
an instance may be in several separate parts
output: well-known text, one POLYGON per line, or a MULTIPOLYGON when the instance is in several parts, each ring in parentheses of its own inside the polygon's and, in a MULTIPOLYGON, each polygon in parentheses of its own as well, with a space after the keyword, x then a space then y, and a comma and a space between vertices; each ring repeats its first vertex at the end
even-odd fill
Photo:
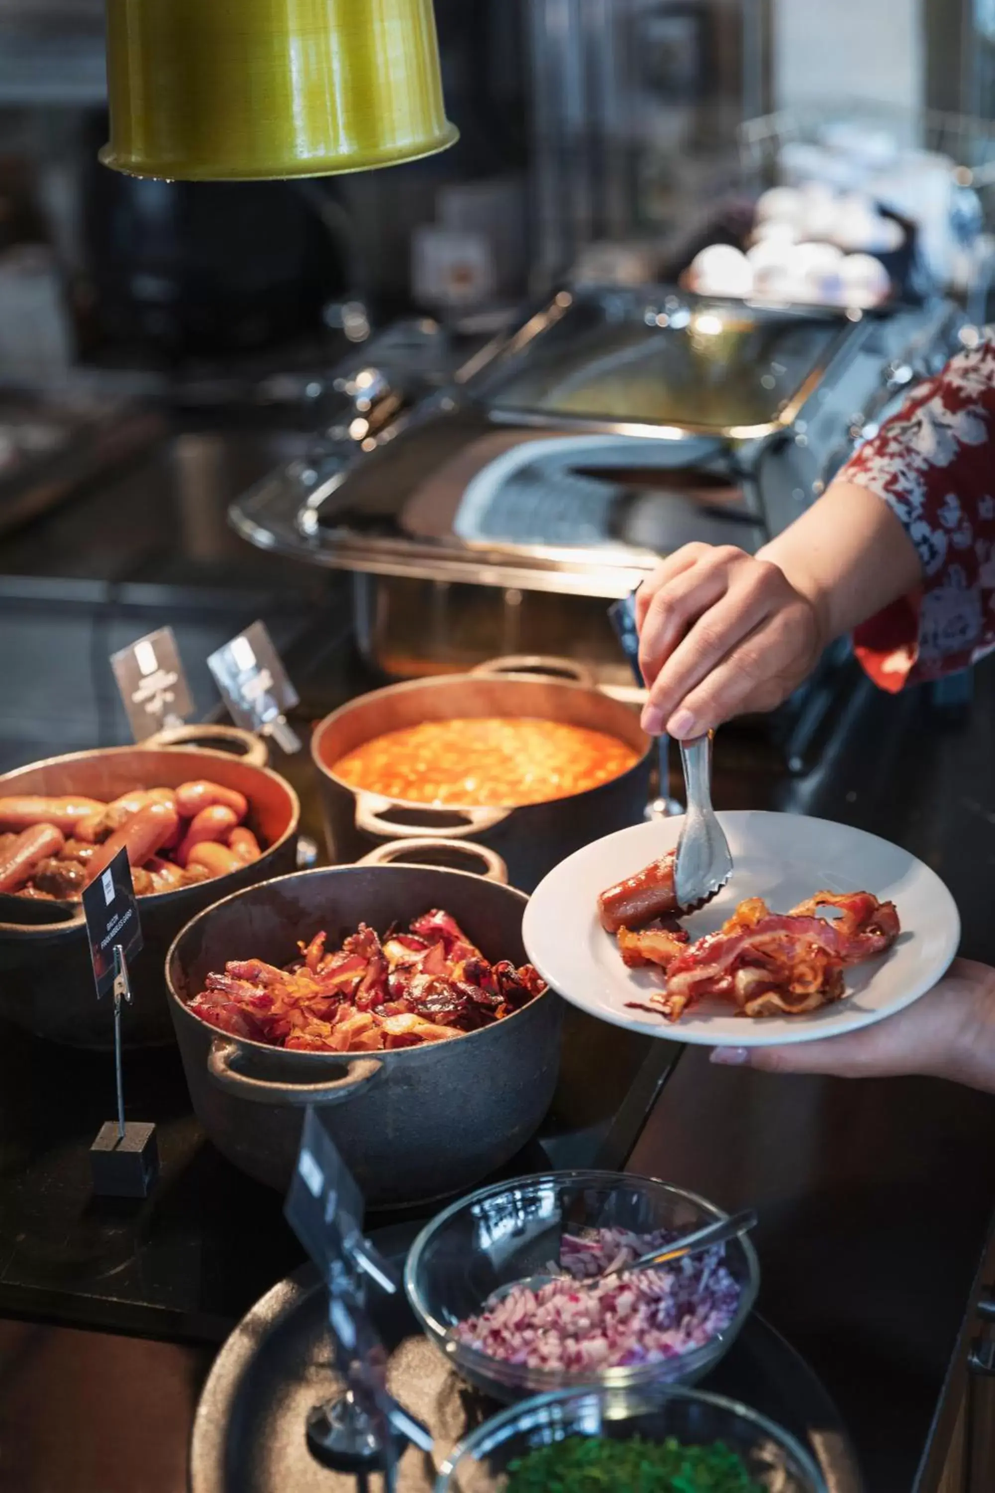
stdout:
POLYGON ((561 291, 419 399, 376 366, 340 370, 313 458, 231 518, 352 572, 360 643, 388 675, 553 652, 631 691, 604 603, 688 540, 759 548, 961 320, 561 291))

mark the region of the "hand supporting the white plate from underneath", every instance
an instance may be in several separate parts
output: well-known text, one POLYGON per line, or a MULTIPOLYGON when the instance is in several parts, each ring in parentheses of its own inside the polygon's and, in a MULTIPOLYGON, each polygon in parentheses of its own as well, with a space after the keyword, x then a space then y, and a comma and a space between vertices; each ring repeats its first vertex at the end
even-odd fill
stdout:
POLYGON ((995 969, 958 959, 928 994, 861 1032, 788 1047, 721 1047, 712 1062, 837 1078, 925 1073, 995 1093, 995 969))

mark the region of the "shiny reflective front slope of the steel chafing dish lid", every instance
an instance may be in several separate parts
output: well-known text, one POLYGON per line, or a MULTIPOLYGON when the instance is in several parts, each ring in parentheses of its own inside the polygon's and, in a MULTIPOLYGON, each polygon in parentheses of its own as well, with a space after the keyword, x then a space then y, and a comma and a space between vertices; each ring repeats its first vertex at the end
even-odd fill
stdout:
POLYGON ((691 539, 761 542, 743 482, 709 442, 495 430, 474 411, 415 426, 360 461, 313 526, 339 543, 640 570, 691 539))

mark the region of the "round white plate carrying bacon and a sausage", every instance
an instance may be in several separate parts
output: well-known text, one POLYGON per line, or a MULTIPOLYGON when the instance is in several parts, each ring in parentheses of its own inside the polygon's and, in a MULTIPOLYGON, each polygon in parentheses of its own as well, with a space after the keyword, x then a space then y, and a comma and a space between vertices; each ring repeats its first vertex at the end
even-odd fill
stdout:
POLYGON ((633 1011, 661 987, 661 972, 627 969, 598 921, 598 893, 631 876, 677 844, 683 820, 619 830, 561 861, 525 909, 528 957, 543 979, 582 1011, 615 1026, 707 1047, 776 1047, 812 1042, 871 1026, 925 994, 961 941, 953 897, 935 872, 908 851, 849 824, 800 814, 721 814, 732 851, 724 891, 683 920, 692 938, 721 927, 744 897, 789 912, 816 891, 873 891, 898 908, 901 933, 888 951, 846 970, 846 996, 798 1017, 737 1017, 728 1002, 703 1000, 677 1021, 633 1011))

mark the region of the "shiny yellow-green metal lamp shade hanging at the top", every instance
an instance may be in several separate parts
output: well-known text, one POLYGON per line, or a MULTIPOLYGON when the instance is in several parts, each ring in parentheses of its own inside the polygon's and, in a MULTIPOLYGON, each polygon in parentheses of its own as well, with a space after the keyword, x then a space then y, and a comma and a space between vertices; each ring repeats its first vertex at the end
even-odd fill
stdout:
POLYGON ((445 151, 433 0, 107 0, 104 166, 330 176, 445 151))

